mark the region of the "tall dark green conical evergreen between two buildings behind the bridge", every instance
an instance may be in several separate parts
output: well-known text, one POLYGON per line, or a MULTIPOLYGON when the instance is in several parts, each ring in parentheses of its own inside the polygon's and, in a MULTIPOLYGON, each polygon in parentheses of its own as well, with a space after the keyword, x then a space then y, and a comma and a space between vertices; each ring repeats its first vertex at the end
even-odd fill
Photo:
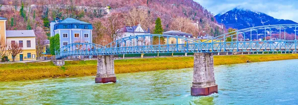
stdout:
MULTIPOLYGON (((161 25, 161 20, 159 17, 157 17, 157 19, 155 20, 155 28, 153 30, 154 34, 162 34, 163 29, 162 29, 162 25, 161 25)), ((153 37, 153 44, 164 44, 164 37, 163 36, 154 36, 153 37), (158 42, 158 40, 160 40, 160 42, 158 42)))

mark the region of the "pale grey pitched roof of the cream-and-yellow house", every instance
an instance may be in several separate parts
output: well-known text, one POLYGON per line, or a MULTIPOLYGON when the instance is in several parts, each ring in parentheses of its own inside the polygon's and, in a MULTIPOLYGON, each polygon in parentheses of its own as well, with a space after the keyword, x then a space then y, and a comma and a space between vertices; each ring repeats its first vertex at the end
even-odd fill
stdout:
POLYGON ((6 30, 6 37, 36 37, 33 30, 6 30))

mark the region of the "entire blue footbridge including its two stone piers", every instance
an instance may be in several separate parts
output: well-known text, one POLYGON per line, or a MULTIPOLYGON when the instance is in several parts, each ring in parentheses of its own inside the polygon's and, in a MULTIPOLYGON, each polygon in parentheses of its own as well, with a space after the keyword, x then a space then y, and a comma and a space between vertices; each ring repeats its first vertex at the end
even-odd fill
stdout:
POLYGON ((250 27, 200 41, 181 36, 148 34, 119 38, 105 46, 94 43, 72 43, 56 53, 56 65, 69 56, 97 56, 95 83, 116 82, 114 55, 149 53, 194 53, 194 75, 191 95, 218 93, 213 72, 213 54, 219 52, 292 52, 297 53, 298 24, 250 27), (287 34, 286 32, 292 33, 287 34), (295 36, 294 34, 295 33, 295 36), (259 40, 261 39, 261 40, 259 40))

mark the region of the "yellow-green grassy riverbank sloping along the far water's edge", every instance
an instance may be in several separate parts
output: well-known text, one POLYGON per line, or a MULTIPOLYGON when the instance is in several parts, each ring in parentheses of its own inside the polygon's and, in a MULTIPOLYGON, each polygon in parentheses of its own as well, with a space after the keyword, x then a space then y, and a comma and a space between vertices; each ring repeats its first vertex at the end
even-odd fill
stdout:
MULTIPOLYGON (((298 59, 298 54, 214 56, 214 65, 298 59)), ((193 57, 115 60, 115 73, 134 73, 193 67, 193 57)), ((95 76, 97 61, 66 61, 62 67, 52 62, 0 64, 0 81, 95 76)))

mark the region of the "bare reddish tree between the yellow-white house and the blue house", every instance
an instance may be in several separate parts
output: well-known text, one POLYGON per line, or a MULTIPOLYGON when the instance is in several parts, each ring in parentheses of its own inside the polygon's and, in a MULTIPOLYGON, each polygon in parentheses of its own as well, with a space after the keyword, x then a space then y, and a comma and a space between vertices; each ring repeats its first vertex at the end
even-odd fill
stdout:
POLYGON ((36 35, 36 55, 39 59, 41 57, 41 54, 45 51, 45 40, 47 39, 47 35, 45 31, 42 29, 42 27, 36 27, 35 29, 35 35, 36 35))

